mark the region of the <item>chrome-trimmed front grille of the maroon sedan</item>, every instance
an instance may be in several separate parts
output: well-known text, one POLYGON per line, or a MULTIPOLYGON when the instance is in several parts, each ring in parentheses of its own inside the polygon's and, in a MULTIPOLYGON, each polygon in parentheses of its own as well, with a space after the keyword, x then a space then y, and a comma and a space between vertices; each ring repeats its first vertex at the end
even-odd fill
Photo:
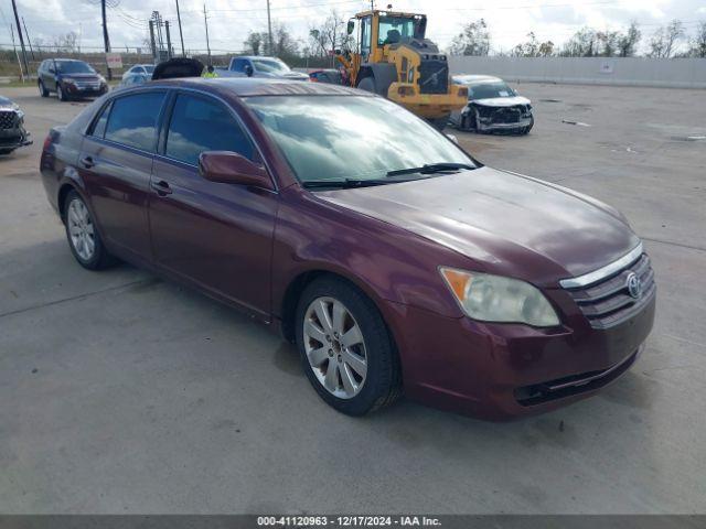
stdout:
POLYGON ((656 284, 650 258, 642 253, 621 270, 587 287, 567 289, 593 328, 610 328, 638 314, 654 296, 656 284), (633 298, 628 277, 633 272, 641 282, 641 294, 633 298))

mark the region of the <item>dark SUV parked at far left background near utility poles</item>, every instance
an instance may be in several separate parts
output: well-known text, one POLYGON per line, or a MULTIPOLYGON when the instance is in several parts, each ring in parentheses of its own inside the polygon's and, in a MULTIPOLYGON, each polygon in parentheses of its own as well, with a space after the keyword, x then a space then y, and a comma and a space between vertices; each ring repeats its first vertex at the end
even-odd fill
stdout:
POLYGON ((61 101, 73 98, 103 96, 108 83, 88 63, 74 58, 47 58, 42 61, 36 73, 42 97, 52 91, 61 101))

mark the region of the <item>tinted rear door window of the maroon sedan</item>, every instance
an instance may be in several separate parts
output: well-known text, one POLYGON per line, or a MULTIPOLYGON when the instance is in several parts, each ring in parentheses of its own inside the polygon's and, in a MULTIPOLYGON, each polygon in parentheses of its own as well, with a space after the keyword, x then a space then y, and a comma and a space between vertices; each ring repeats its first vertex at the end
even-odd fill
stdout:
POLYGON ((143 151, 153 151, 157 119, 163 100, 163 91, 136 94, 115 99, 106 127, 106 139, 143 151))

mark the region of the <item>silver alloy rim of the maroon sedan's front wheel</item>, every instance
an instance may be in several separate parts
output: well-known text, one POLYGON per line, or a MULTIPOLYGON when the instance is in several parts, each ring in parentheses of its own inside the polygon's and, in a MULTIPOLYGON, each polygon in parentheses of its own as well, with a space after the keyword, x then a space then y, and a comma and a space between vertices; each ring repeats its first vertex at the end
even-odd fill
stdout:
POLYGON ((334 397, 352 399, 367 375, 367 350, 357 322, 340 301, 317 298, 304 313, 304 352, 317 379, 334 397))

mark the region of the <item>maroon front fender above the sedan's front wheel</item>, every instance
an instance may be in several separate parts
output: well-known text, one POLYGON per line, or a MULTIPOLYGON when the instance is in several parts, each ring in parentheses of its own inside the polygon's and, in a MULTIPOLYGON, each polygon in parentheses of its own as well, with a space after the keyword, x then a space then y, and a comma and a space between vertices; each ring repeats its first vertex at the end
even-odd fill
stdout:
POLYGON ((282 191, 272 249, 272 307, 281 307, 292 281, 311 271, 341 276, 376 304, 383 300, 460 317, 440 264, 470 259, 398 226, 320 199, 292 186, 282 191))

